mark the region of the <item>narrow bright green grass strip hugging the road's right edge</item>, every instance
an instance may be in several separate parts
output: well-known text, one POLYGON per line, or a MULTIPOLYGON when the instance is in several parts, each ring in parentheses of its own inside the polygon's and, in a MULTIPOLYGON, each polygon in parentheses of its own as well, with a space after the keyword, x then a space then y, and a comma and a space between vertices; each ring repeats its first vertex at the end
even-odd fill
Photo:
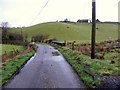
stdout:
POLYGON ((78 73, 79 77, 82 79, 85 85, 88 87, 92 87, 93 85, 93 78, 86 74, 83 71, 83 63, 79 63, 74 59, 75 55, 77 55, 75 52, 70 53, 69 49, 64 50, 63 48, 59 48, 59 50, 62 52, 66 60, 70 63, 70 65, 73 67, 73 69, 78 73), (68 54, 69 53, 69 54, 68 54))

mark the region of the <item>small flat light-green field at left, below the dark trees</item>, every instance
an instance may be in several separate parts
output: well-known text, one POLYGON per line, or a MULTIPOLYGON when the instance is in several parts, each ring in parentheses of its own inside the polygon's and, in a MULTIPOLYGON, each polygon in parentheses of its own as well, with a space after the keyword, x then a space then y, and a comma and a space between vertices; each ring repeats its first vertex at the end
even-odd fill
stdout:
POLYGON ((0 50, 0 55, 1 55, 1 54, 4 54, 5 51, 6 51, 6 53, 9 53, 9 52, 13 51, 13 48, 14 48, 15 50, 23 50, 23 49, 24 49, 23 46, 19 46, 19 45, 0 44, 0 47, 2 47, 2 48, 0 48, 0 49, 1 49, 1 50, 0 50))

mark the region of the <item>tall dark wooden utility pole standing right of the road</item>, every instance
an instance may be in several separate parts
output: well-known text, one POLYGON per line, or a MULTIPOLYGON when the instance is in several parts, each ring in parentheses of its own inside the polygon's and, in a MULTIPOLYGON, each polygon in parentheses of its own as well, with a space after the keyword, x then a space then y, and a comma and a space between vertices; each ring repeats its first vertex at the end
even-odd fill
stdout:
POLYGON ((95 58, 95 33, 96 33, 96 0, 92 0, 91 59, 95 58))

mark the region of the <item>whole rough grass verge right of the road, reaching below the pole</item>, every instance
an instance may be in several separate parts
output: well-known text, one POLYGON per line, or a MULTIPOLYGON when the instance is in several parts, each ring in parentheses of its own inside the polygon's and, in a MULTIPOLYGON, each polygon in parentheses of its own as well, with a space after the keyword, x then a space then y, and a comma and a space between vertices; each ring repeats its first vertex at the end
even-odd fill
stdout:
MULTIPOLYGON (((84 84, 90 88, 99 86, 101 78, 104 75, 120 75, 118 73, 120 71, 120 65, 117 63, 119 59, 116 59, 114 64, 110 64, 112 59, 107 54, 105 55, 105 60, 92 60, 89 56, 78 54, 66 47, 57 46, 57 49, 64 55, 84 84)), ((112 55, 114 56, 116 54, 112 55)))

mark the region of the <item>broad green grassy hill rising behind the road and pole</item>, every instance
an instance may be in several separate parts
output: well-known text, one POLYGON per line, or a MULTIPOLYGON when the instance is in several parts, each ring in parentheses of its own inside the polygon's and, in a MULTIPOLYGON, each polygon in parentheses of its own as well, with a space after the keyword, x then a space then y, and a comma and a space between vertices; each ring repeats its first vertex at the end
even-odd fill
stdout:
MULTIPOLYGON (((96 41, 114 40, 118 37, 117 24, 99 23, 97 24, 96 41)), ((50 38, 56 38, 59 41, 77 41, 90 42, 92 25, 88 23, 63 23, 49 22, 42 23, 27 28, 14 28, 10 31, 22 33, 28 36, 28 40, 32 36, 38 34, 48 34, 50 38)))

